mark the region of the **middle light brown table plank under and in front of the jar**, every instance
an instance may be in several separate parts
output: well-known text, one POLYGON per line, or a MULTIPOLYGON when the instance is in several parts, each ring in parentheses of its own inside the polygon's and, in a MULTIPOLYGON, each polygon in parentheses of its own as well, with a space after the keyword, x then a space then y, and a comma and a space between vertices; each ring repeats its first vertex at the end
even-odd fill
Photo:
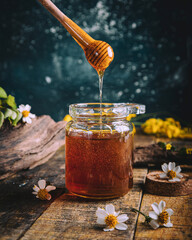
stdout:
POLYGON ((130 207, 140 206, 146 174, 147 169, 135 169, 133 188, 124 197, 115 200, 94 201, 63 194, 38 218, 22 240, 133 239, 137 216, 130 212, 130 207), (128 230, 104 232, 96 223, 97 207, 104 207, 107 203, 128 214, 128 230))

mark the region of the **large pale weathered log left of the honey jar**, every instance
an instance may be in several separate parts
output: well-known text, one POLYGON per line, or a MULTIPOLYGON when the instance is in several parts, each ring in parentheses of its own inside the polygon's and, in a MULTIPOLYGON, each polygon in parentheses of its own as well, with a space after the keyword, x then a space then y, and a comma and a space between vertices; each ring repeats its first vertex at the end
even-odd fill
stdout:
POLYGON ((46 115, 32 124, 5 125, 0 130, 0 179, 48 161, 65 143, 65 125, 46 115))

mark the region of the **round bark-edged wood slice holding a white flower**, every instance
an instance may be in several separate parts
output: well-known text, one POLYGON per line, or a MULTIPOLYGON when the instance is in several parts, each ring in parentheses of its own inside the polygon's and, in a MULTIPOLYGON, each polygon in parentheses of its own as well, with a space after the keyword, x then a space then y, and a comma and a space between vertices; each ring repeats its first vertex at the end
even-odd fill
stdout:
POLYGON ((183 178, 180 182, 169 182, 168 179, 161 179, 161 171, 147 174, 145 190, 148 193, 160 196, 183 196, 192 193, 192 179, 187 174, 181 173, 183 178))

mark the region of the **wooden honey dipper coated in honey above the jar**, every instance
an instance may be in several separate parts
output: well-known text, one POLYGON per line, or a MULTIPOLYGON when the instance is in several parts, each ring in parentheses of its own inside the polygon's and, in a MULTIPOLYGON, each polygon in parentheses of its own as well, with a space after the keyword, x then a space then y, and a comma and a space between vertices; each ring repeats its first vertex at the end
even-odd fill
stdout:
POLYGON ((99 75, 103 75, 105 69, 114 58, 112 47, 106 42, 95 40, 89 36, 50 0, 38 1, 66 28, 84 50, 85 56, 91 66, 97 70, 99 75))

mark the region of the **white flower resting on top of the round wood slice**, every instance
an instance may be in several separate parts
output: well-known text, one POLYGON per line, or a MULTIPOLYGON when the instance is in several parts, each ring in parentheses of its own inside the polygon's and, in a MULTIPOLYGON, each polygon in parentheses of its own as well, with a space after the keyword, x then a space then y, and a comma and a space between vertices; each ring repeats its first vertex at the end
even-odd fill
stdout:
POLYGON ((170 162, 169 164, 164 163, 161 165, 164 173, 159 174, 160 178, 168 178, 170 182, 179 182, 183 177, 180 172, 180 166, 175 166, 175 162, 170 162))

